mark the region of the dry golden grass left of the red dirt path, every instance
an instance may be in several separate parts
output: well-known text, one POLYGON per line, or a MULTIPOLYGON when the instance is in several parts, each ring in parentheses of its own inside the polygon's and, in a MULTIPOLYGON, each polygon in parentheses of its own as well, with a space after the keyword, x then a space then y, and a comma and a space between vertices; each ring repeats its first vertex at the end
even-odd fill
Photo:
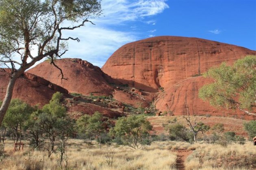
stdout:
MULTIPOLYGON (((125 146, 88 145, 84 140, 69 140, 67 149, 67 168, 80 170, 169 170, 175 169, 176 154, 167 149, 166 144, 157 143, 145 147, 143 150, 133 150, 125 146), (106 153, 113 151, 113 164, 108 166, 106 153)), ((53 154, 50 159, 45 152, 31 150, 27 147, 23 151, 13 153, 12 141, 6 142, 7 157, 0 164, 2 170, 61 169, 59 155, 53 154)), ((63 167, 65 166, 65 160, 63 167)), ((62 168, 63 168, 62 167, 62 168)))

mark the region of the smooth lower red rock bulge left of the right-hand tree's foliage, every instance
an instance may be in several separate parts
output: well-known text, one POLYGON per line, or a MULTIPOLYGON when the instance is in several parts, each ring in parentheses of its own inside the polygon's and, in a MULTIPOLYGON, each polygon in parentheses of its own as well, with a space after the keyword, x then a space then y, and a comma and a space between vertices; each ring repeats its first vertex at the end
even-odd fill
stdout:
POLYGON ((234 117, 238 119, 255 120, 256 116, 246 115, 239 109, 215 108, 209 102, 204 102, 198 97, 198 90, 205 84, 213 83, 212 79, 202 76, 192 77, 169 86, 155 100, 156 108, 161 111, 169 111, 174 115, 187 115, 185 103, 189 106, 191 115, 213 115, 221 117, 234 117))

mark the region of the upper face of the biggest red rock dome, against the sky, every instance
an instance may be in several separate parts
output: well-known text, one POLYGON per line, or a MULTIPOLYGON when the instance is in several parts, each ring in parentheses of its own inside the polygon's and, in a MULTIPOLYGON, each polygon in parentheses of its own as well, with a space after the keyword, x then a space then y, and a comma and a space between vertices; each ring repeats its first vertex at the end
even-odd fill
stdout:
POLYGON ((159 36, 122 46, 102 71, 131 87, 156 92, 249 54, 256 51, 200 38, 159 36))

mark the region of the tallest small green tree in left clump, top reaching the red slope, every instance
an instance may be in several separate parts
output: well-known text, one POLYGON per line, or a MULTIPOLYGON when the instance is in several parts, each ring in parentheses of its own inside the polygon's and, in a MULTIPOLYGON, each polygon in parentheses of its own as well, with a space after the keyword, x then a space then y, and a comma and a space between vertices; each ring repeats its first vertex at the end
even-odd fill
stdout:
POLYGON ((48 151, 48 157, 52 155, 58 148, 61 151, 61 161, 63 154, 65 153, 65 147, 67 144, 67 137, 73 132, 74 123, 69 119, 66 109, 61 105, 62 94, 56 92, 52 95, 52 99, 49 104, 43 106, 38 112, 34 120, 33 131, 41 133, 43 138, 48 142, 44 143, 44 149, 48 151), (56 148, 56 140, 60 145, 56 148))

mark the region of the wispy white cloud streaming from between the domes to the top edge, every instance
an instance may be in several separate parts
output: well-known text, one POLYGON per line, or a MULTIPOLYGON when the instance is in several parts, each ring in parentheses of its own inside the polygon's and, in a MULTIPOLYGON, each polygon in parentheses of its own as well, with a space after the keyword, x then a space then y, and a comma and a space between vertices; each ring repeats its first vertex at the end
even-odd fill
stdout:
MULTIPOLYGON (((108 57, 126 43, 140 39, 135 21, 155 25, 150 17, 162 13, 169 6, 166 0, 106 0, 102 1, 103 16, 93 19, 96 25, 73 30, 65 36, 79 37, 80 43, 69 41, 69 51, 63 57, 77 57, 96 66, 103 66, 108 57), (148 20, 148 21, 144 21, 148 20), (130 24, 130 25, 129 25, 130 24), (116 26, 130 28, 120 31, 116 26)), ((151 30, 153 33, 155 30, 151 30)), ((150 35, 154 36, 154 35, 150 35)), ((64 34, 63 34, 64 37, 64 34)))

